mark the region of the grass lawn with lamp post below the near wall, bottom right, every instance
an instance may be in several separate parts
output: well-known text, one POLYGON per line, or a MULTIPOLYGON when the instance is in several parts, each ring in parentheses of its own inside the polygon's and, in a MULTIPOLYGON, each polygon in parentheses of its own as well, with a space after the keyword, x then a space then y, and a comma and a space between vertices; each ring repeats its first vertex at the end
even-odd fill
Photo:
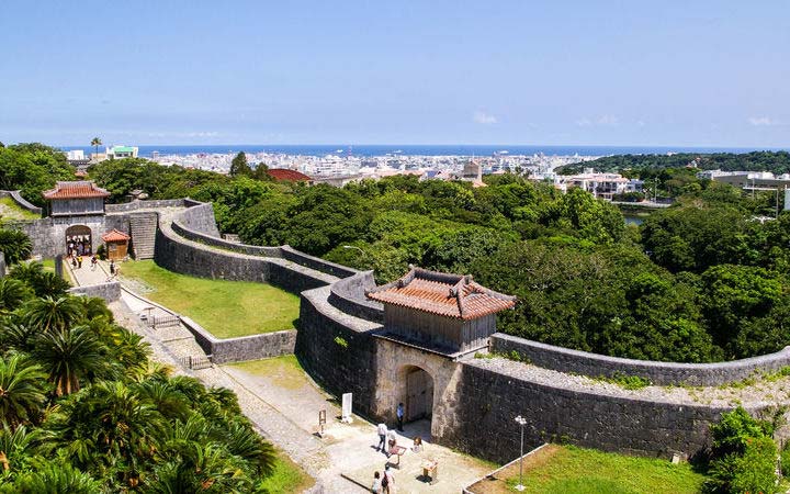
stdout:
MULTIPOLYGON (((518 463, 472 486, 475 494, 509 493, 519 482, 518 463)), ((700 492, 704 475, 688 464, 625 457, 573 446, 549 445, 524 458, 527 493, 685 494, 700 492)))

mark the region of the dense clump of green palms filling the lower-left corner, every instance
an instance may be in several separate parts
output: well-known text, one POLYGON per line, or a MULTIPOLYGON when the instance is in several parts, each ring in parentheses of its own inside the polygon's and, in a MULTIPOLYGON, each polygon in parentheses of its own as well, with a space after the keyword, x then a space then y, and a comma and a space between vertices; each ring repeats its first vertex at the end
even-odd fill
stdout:
POLYGON ((255 491, 275 457, 236 395, 170 377, 67 288, 37 262, 0 279, 0 492, 255 491))

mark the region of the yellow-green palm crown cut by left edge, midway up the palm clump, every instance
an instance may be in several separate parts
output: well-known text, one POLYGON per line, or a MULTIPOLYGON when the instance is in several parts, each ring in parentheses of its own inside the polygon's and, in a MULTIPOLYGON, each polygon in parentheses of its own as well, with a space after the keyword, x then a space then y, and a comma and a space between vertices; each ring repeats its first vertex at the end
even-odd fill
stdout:
POLYGON ((21 355, 0 358, 0 417, 16 425, 38 415, 46 374, 21 355))

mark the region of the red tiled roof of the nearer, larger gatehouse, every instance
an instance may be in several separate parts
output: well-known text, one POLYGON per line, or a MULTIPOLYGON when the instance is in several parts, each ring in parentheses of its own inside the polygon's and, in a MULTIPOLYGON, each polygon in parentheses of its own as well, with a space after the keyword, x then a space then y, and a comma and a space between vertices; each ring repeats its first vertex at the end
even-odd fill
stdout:
POLYGON ((462 277, 413 268, 392 283, 376 287, 368 297, 461 319, 476 319, 516 305, 516 297, 489 290, 462 277))

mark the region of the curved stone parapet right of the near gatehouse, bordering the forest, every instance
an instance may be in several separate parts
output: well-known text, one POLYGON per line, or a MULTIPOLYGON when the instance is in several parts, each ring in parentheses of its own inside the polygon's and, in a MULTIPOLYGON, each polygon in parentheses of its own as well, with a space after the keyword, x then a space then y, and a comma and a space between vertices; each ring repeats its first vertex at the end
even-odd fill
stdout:
POLYGON ((639 375, 658 385, 718 386, 790 366, 790 347, 730 362, 677 363, 608 357, 497 333, 490 338, 490 349, 498 353, 516 351, 522 360, 560 372, 591 378, 639 375))

